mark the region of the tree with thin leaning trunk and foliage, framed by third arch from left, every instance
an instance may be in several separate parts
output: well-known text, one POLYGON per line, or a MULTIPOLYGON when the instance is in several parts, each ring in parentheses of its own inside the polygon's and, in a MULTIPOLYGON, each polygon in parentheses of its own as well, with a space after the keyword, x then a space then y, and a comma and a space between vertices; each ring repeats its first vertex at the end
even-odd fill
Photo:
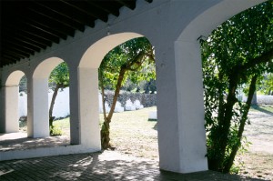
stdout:
POLYGON ((114 114, 119 91, 129 78, 133 83, 155 79, 155 55, 146 37, 139 37, 116 46, 103 59, 99 67, 99 86, 102 92, 104 123, 101 128, 101 146, 110 146, 110 122, 114 114), (115 89, 113 104, 108 115, 105 107, 105 87, 115 89))

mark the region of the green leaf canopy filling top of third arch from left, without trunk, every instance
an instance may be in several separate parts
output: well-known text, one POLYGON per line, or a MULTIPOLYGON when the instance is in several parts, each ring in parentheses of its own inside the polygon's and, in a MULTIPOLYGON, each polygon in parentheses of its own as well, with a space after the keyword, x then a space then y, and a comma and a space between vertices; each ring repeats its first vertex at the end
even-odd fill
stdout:
POLYGON ((142 80, 156 79, 154 58, 154 49, 146 37, 118 45, 104 57, 99 66, 99 84, 115 90, 121 68, 127 70, 122 85, 126 84, 127 79, 136 85, 142 80), (132 64, 133 59, 136 63, 132 64))

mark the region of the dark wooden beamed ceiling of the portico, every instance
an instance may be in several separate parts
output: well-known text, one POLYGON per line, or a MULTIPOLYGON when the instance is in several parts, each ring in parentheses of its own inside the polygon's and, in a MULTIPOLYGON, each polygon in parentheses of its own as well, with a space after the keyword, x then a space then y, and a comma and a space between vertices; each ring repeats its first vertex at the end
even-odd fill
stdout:
MULTIPOLYGON (((76 30, 107 22, 121 7, 131 10, 140 0, 1 0, 0 67, 12 65, 58 44, 76 30)), ((151 3, 153 0, 146 0, 151 3)))

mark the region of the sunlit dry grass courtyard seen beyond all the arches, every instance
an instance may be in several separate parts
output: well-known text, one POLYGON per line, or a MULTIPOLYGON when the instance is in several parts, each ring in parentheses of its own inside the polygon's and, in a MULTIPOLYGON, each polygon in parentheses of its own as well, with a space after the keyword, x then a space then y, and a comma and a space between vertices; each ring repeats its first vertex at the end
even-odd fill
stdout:
MULTIPOLYGON (((116 151, 136 157, 158 160, 157 121, 149 121, 148 113, 157 107, 115 113, 111 123, 111 144, 116 151)), ((273 106, 252 107, 250 126, 245 136, 252 144, 248 152, 238 155, 238 174, 273 180, 273 106)), ((100 121, 103 116, 100 115, 100 121)), ((56 126, 69 134, 69 118, 57 120, 56 126)))

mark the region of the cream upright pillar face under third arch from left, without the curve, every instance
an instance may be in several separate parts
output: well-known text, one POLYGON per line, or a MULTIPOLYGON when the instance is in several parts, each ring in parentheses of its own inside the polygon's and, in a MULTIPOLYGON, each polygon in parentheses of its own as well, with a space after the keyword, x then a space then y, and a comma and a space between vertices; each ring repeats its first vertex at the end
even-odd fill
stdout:
POLYGON ((80 142, 81 145, 100 150, 97 69, 79 68, 78 74, 80 142))

